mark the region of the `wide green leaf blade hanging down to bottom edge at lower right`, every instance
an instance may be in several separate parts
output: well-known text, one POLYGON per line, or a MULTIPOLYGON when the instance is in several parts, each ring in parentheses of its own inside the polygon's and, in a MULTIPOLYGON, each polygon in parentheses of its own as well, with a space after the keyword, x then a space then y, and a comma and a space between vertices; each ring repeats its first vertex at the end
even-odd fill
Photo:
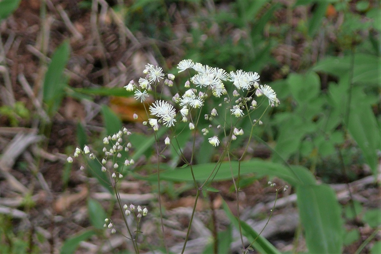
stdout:
POLYGON ((343 222, 335 192, 328 185, 299 185, 296 193, 309 253, 341 254, 343 222))

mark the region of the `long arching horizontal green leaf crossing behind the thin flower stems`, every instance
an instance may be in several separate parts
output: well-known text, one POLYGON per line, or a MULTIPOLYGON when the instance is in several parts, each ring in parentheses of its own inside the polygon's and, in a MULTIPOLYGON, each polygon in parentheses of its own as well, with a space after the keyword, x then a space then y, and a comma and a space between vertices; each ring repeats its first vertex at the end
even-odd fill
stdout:
MULTIPOLYGON (((214 178, 215 181, 223 181, 238 176, 238 161, 223 162, 218 169, 214 178)), ((197 181, 205 181, 209 177, 212 170, 215 168, 215 163, 205 163, 193 165, 193 172, 197 181)), ((262 161, 260 159, 251 159, 249 161, 242 161, 240 166, 240 175, 255 174, 258 177, 267 175, 282 178, 291 185, 298 185, 301 183, 315 184, 314 176, 305 168, 301 166, 292 166, 290 168, 282 164, 273 163, 269 161, 262 161)), ((168 181, 193 181, 190 167, 176 168, 164 170, 160 173, 161 180, 168 181)), ((157 180, 157 174, 151 175, 149 180, 157 180)))

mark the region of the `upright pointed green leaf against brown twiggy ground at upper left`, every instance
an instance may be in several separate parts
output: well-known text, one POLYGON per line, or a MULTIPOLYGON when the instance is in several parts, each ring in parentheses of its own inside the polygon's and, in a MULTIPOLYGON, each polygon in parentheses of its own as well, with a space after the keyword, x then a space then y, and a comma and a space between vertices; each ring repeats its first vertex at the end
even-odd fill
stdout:
POLYGON ((69 42, 64 41, 54 52, 43 86, 43 102, 49 115, 54 115, 61 105, 67 78, 63 78, 64 69, 69 60, 69 42))

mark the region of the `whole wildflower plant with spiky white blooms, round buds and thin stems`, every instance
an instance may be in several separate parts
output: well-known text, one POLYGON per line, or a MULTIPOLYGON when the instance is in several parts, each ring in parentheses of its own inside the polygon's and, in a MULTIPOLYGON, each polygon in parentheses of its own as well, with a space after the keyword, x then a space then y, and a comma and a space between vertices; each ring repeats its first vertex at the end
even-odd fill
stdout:
MULTIPOLYGON (((267 104, 267 101, 267 108, 276 107, 279 105, 279 99, 277 99, 276 93, 271 87, 259 84, 259 75, 255 72, 237 70, 227 73, 224 69, 195 63, 190 59, 179 62, 177 69, 180 75, 185 75, 184 73, 189 75, 184 84, 175 84, 174 74, 164 74, 162 68, 147 64, 143 71, 145 77, 141 77, 138 82, 131 80, 125 86, 125 89, 133 92, 134 98, 142 103, 145 108, 148 120, 144 121, 143 125, 147 126, 147 128, 151 129, 154 133, 157 156, 162 155, 166 148, 172 146, 174 150, 178 152, 179 158, 189 166, 189 170, 192 173, 194 186, 197 192, 194 209, 192 211, 181 252, 183 253, 186 248, 192 219, 194 218, 195 207, 200 193, 210 185, 214 175, 218 172, 221 162, 226 160, 226 158, 231 161, 231 144, 237 139, 237 136, 242 136, 244 134, 243 129, 238 127, 239 122, 243 118, 248 118, 251 123, 251 131, 250 133, 247 133, 249 138, 246 147, 241 157, 238 158, 240 163, 247 151, 248 145, 250 144, 253 128, 256 125, 262 124, 261 119, 253 119, 253 114, 251 113, 257 109, 257 104, 267 104), (165 90, 173 92, 172 98, 168 98, 168 93, 163 92, 165 90), (166 96, 164 94, 166 94, 166 96), (148 104, 147 99, 150 96, 153 96, 154 102, 148 104), (213 103, 211 104, 209 101, 212 101, 213 103), (217 104, 216 101, 218 101, 217 104), (218 106, 210 108, 210 105, 218 106), (207 125, 205 125, 204 120, 207 121, 207 125), (160 142, 160 137, 157 134, 160 128, 166 128, 167 135, 164 140, 164 145, 160 142), (176 133, 181 132, 185 128, 189 128, 192 131, 192 153, 190 158, 183 154, 179 145, 178 136, 176 136, 176 133), (192 169, 195 151, 197 150, 195 140, 201 135, 205 136, 209 143, 207 145, 210 145, 211 148, 218 147, 218 150, 221 151, 215 166, 210 169, 209 177, 202 183, 195 179, 192 169)), ((133 118, 138 119, 138 115, 134 114, 133 118)), ((131 164, 134 163, 131 158, 121 158, 121 151, 129 151, 131 148, 131 143, 125 139, 125 137, 128 137, 130 134, 131 133, 126 128, 123 128, 112 136, 104 137, 104 155, 102 155, 101 159, 94 156, 87 146, 85 146, 83 150, 77 148, 74 152, 74 157, 83 154, 89 156, 90 159, 98 160, 102 172, 109 175, 118 200, 119 208, 122 211, 123 219, 129 232, 127 238, 132 240, 134 249, 136 253, 138 253, 139 248, 136 242, 136 235, 133 235, 133 232, 130 230, 126 221, 126 216, 129 216, 130 213, 134 211, 134 206, 123 206, 120 202, 117 189, 118 181, 123 177, 126 170, 131 167, 131 164)), ((72 162, 72 157, 70 156, 67 161, 72 162)), ((160 159, 157 161, 159 164, 160 159)), ((160 170, 159 165, 157 166, 158 192, 160 193, 160 170)), ((239 186, 239 177, 237 180, 232 178, 232 181, 238 197, 239 190, 237 186, 239 186)), ((162 231, 163 235, 165 235, 160 195, 158 195, 158 201, 162 231)), ((238 204, 237 209, 239 211, 238 204)), ((140 221, 141 216, 147 215, 147 208, 145 208, 145 210, 140 208, 140 210, 141 211, 136 215, 136 221, 140 221)), ((108 228, 114 229, 114 224, 112 224, 110 219, 107 219, 105 225, 108 228)), ((113 232, 115 233, 115 229, 113 232)), ((242 239, 242 232, 240 232, 240 235, 242 239)), ((166 243, 165 247, 168 252, 166 243)), ((244 246, 243 249, 245 249, 244 246)))

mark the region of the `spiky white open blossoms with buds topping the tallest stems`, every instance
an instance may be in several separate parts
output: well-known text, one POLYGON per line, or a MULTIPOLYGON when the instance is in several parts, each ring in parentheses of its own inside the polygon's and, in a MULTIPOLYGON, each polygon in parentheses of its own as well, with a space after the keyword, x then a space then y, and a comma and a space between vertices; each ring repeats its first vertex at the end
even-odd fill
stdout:
MULTIPOLYGON (((254 110, 257 106, 257 102, 251 96, 254 90, 256 96, 266 96, 271 107, 279 105, 279 99, 277 99, 274 90, 268 85, 258 84, 258 73, 246 72, 241 69, 227 73, 224 69, 195 63, 190 59, 179 62, 177 68, 179 73, 188 69, 193 69, 196 72, 185 82, 184 87, 187 90, 182 94, 176 93, 172 98, 173 102, 178 105, 181 121, 190 121, 190 129, 194 129, 195 125, 197 125, 197 122, 192 121, 190 112, 192 110, 200 110, 205 105, 205 100, 208 96, 215 96, 216 98, 224 96, 224 104, 227 104, 227 109, 231 112, 231 115, 237 118, 244 117, 245 114, 249 113, 250 110, 254 110), (228 94, 224 82, 232 82, 234 87, 232 95, 228 94), (233 99, 235 97, 238 97, 238 99, 233 99)), ((162 68, 158 66, 148 64, 143 73, 146 74, 146 78, 140 78, 138 84, 131 80, 125 86, 126 90, 134 91, 134 97, 141 102, 146 101, 146 98, 149 96, 148 92, 152 90, 153 86, 157 86, 160 80, 165 79, 165 85, 169 87, 173 86, 175 76, 167 74, 167 78, 165 78, 162 68)), ((219 104, 219 106, 221 107, 222 104, 219 104)), ((176 119, 178 114, 176 114, 174 105, 162 99, 158 99, 149 106, 149 114, 154 117, 149 118, 143 124, 149 124, 154 131, 159 129, 160 124, 173 127, 176 121, 179 120, 176 119)), ((214 108, 210 115, 205 115, 205 119, 213 120, 217 115, 218 111, 214 108)), ((203 131, 203 134, 208 134, 208 131, 203 131)), ((213 146, 219 145, 219 139, 216 135, 208 140, 213 146)))

